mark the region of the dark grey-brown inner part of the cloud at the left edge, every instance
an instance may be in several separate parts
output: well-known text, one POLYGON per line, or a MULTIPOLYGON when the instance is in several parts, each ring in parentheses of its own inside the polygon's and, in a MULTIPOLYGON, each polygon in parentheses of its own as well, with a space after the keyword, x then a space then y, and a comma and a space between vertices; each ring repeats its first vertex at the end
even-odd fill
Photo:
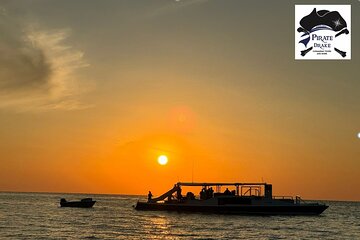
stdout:
POLYGON ((26 31, 6 13, 0 15, 0 90, 48 88, 51 65, 44 50, 32 44, 26 31))

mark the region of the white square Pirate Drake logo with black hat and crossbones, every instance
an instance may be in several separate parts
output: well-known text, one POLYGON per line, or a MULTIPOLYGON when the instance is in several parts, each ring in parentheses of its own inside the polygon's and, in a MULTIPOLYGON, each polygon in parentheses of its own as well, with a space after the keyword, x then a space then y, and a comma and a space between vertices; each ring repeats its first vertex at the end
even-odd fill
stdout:
POLYGON ((351 6, 295 5, 295 59, 351 59, 351 6))

